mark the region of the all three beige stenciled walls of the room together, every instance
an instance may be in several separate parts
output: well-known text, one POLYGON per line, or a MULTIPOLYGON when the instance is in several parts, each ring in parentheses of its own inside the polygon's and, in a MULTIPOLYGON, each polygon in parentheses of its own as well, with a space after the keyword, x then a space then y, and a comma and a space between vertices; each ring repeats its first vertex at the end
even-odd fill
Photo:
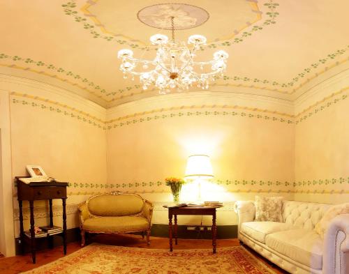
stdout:
MULTIPOLYGON (((12 234, 0 233, 1 246, 13 241, 13 231, 18 235, 11 178, 25 175, 29 164, 69 181, 69 228, 77 227, 80 201, 110 190, 139 193, 154 201, 154 223, 167 223, 162 206, 172 196, 163 180, 182 177, 186 158, 195 153, 210 156, 215 174, 216 186, 202 196, 225 201, 218 224, 236 224, 234 201, 254 199, 256 194, 348 201, 348 77, 305 91, 295 104, 272 96, 217 91, 158 96, 107 110, 54 86, 0 78, 0 102, 7 106, 1 105, 1 114, 7 113, 1 116, 7 177, 1 176, 0 195, 7 197, 3 204, 9 208, 0 212, 0 225, 15 220, 14 229, 7 227, 12 234)), ((60 224, 60 201, 55 201, 54 213, 60 224)), ((47 223, 45 202, 36 203, 35 215, 37 224, 47 223)), ((188 217, 181 223, 199 219, 188 217)), ((28 228, 27 204, 24 223, 28 228)))

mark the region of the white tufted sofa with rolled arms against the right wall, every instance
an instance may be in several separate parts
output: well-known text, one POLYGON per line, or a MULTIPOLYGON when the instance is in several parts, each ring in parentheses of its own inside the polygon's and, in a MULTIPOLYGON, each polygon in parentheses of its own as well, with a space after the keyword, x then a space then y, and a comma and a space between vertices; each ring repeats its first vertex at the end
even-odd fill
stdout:
POLYGON ((349 214, 329 224, 322 239, 313 229, 329 204, 283 201, 283 222, 255 222, 253 201, 237 201, 239 240, 290 273, 349 274, 349 214))

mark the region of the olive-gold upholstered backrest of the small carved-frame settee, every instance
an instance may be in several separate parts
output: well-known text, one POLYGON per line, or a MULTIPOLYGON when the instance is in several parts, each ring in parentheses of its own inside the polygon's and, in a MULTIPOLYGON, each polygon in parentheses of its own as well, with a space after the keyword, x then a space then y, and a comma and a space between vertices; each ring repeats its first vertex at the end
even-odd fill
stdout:
POLYGON ((129 216, 142 211, 144 200, 138 195, 103 194, 87 200, 89 213, 96 216, 129 216))

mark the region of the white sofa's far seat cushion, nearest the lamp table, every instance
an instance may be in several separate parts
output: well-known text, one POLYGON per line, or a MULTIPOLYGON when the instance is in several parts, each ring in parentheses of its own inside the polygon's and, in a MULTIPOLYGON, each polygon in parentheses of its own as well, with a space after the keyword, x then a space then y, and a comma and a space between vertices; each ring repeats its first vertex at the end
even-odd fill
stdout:
POLYGON ((292 228, 292 225, 284 222, 244 222, 241 231, 260 243, 265 243, 265 236, 268 234, 292 228))

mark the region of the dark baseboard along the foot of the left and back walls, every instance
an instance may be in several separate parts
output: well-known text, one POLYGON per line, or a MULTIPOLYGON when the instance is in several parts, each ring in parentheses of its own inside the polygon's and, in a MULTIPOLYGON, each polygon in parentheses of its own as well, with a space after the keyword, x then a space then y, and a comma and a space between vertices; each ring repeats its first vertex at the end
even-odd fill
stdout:
MULTIPOLYGON (((178 225, 177 235, 178 238, 186 239, 210 239, 211 231, 210 226, 188 226, 178 225), (189 228, 189 230, 188 230, 189 228)), ((80 229, 75 227, 67 229, 66 231, 67 243, 80 241, 80 229)), ((155 237, 168 237, 168 224, 153 224, 151 227, 151 236, 155 237)), ((217 238, 237 238, 237 225, 218 225, 217 226, 217 238)), ((53 236, 53 247, 63 245, 63 239, 61 236, 53 236)), ((16 255, 21 254, 20 238, 15 238, 16 255)), ((46 250, 50 248, 47 238, 38 238, 36 240, 36 250, 46 250)), ((30 245, 24 245, 24 252, 30 252, 30 245)))

